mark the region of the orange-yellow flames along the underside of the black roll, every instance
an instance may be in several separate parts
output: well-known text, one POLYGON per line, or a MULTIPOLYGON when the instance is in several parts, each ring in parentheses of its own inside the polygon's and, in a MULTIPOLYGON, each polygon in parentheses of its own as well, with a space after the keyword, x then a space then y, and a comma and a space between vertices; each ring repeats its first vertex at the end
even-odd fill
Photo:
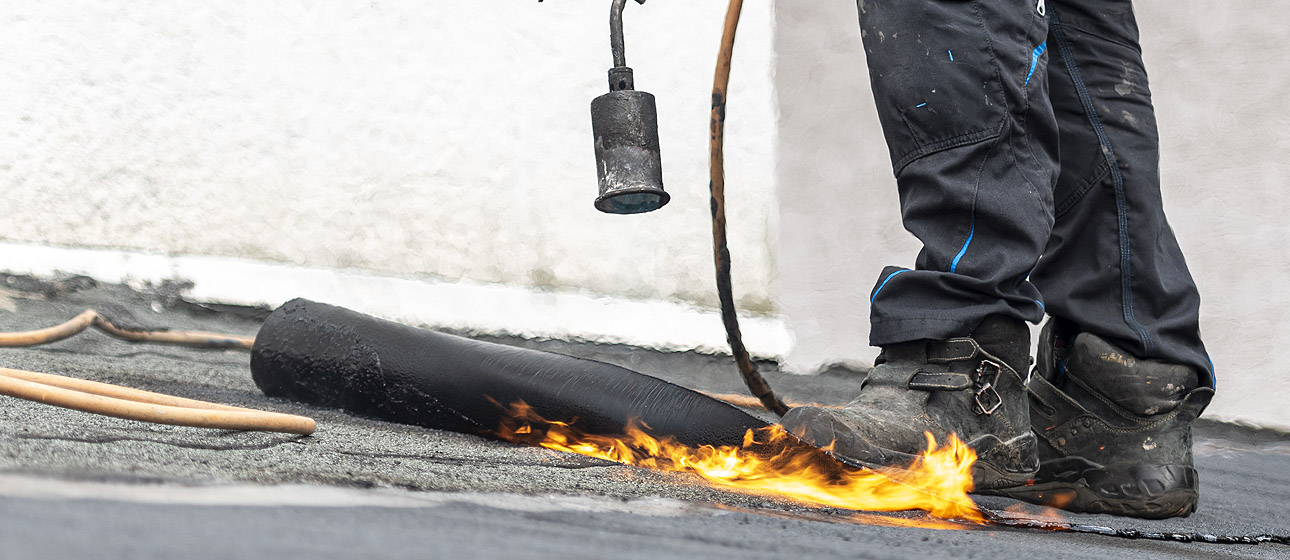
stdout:
MULTIPOLYGON (((584 434, 550 421, 524 401, 506 408, 498 435, 508 441, 597 457, 668 472, 693 472, 715 486, 771 493, 813 506, 863 511, 924 510, 942 519, 984 524, 973 490, 977 453, 953 435, 899 468, 855 468, 788 435, 780 426, 748 430, 743 445, 691 446, 654 437, 631 421, 622 435, 584 434)), ((827 452, 828 449, 824 449, 827 452)))

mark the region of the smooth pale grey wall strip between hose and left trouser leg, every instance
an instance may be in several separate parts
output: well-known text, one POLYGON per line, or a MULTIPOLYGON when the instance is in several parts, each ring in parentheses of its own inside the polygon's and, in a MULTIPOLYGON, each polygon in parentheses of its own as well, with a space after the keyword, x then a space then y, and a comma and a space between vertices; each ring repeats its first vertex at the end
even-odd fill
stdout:
POLYGON ((786 365, 871 364, 869 290, 913 266, 878 128, 855 3, 775 5, 779 249, 775 298, 796 334, 786 365))

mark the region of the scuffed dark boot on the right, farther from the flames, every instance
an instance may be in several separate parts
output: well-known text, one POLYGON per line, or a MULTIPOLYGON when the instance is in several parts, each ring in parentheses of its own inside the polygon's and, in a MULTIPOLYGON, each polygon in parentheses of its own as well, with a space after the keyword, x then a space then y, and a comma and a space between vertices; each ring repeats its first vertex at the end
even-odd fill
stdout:
POLYGON ((1214 396, 1193 368, 1142 360, 1054 317, 1029 379, 1040 471, 1001 495, 1164 519, 1196 510, 1192 421, 1214 396))

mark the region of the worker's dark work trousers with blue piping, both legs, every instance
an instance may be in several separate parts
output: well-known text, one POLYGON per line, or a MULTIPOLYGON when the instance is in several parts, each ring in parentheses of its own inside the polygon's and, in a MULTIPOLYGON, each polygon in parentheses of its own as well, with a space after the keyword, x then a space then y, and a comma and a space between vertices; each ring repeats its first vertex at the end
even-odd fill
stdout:
POLYGON ((877 279, 869 342, 1047 314, 1213 386, 1131 1, 858 4, 902 218, 924 245, 877 279))

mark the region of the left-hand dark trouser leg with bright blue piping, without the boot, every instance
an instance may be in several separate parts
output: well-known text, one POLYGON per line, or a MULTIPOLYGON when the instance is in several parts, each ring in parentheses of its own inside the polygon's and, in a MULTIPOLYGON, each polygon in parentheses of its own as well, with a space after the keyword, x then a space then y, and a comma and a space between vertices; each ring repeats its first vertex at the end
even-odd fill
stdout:
POLYGON ((1035 0, 863 0, 860 28, 913 270, 872 292, 873 346, 1038 323, 1026 280, 1053 227, 1057 126, 1035 0))

